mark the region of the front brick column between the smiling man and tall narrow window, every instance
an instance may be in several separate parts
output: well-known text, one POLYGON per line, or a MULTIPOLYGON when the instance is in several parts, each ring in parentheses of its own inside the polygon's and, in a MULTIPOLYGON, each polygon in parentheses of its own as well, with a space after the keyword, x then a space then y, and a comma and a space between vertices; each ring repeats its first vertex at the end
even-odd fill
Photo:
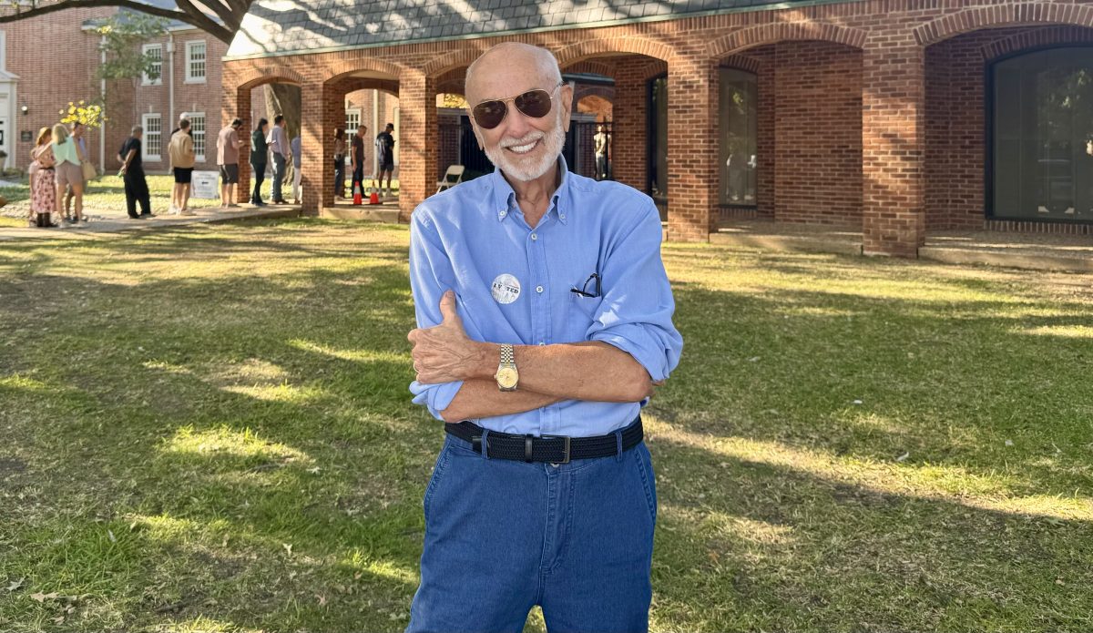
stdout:
POLYGON ((668 238, 707 242, 717 222, 717 65, 680 57, 668 70, 668 238))

